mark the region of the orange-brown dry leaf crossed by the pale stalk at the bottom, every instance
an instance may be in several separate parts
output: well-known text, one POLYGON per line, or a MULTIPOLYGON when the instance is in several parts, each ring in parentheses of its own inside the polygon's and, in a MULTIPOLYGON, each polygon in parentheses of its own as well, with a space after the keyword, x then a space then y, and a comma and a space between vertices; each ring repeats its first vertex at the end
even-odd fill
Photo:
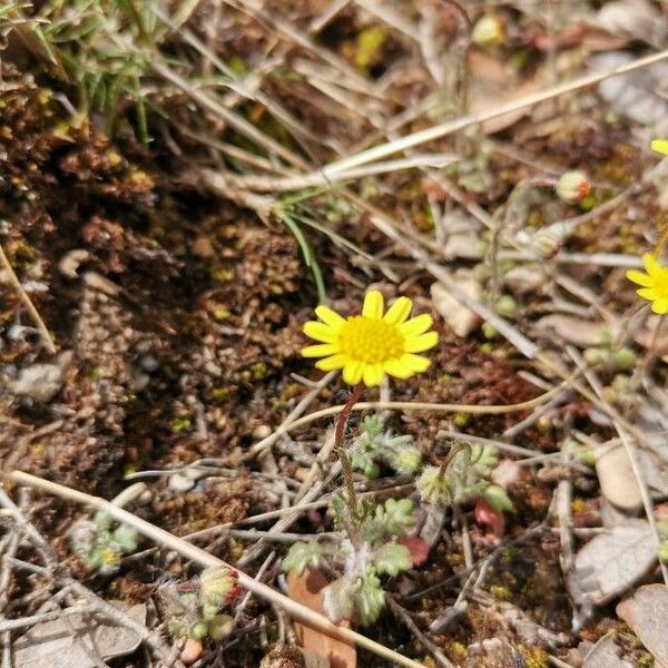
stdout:
MULTIPOLYGON (((287 574, 289 598, 321 615, 324 615, 322 590, 328 584, 320 571, 306 570, 298 577, 291 571, 287 574)), ((331 668, 356 668, 357 652, 355 646, 344 642, 301 621, 295 621, 295 632, 307 655, 317 655, 328 661, 331 668)), ((342 626, 347 626, 342 622, 342 626)))

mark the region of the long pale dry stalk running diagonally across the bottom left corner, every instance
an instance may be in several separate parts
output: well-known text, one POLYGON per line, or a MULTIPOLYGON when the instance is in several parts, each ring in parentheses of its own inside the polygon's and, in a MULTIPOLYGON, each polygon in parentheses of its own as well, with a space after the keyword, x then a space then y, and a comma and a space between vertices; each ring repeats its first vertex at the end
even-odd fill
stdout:
MULTIPOLYGON (((86 494, 78 490, 72 490, 62 484, 58 484, 56 482, 51 482, 50 480, 45 480, 42 478, 38 478, 37 475, 31 475, 30 473, 26 473, 23 471, 12 471, 6 475, 6 478, 16 484, 22 484, 31 488, 36 488, 53 494, 56 497, 60 497, 61 499, 68 499, 70 501, 75 501, 77 503, 84 503, 86 505, 90 505, 92 508, 97 508, 98 510, 105 511, 107 514, 112 517, 118 522, 122 522, 124 524, 128 524, 137 529, 139 533, 143 533, 147 538, 154 540, 161 546, 165 546, 179 554, 185 557, 186 559, 190 559, 191 561, 208 568, 208 567, 219 567, 219 566, 229 566, 222 559, 217 559, 213 554, 205 552, 204 550, 193 546, 185 540, 173 536, 168 531, 147 522, 134 515, 132 513, 124 510, 122 508, 118 508, 112 505, 105 499, 100 499, 99 497, 91 497, 90 494, 86 494)), ((238 581, 242 587, 246 590, 252 591, 256 596, 262 599, 265 599, 269 602, 274 602, 281 606, 288 615, 293 618, 303 621, 304 623, 326 633, 327 636, 332 636, 334 638, 338 638, 341 640, 347 640, 348 642, 354 642, 360 647, 364 647, 370 651, 376 654, 380 657, 385 659, 390 659, 400 666, 407 666, 407 668, 423 668, 422 664, 403 657, 402 655, 395 652, 394 650, 380 645, 366 638, 351 629, 346 629, 345 627, 338 627, 332 623, 326 617, 323 615, 318 615, 313 610, 293 601, 292 599, 283 596, 282 593, 275 591, 267 584, 263 582, 256 582, 250 576, 246 574, 238 569, 235 569, 233 566, 229 566, 238 572, 238 581)))

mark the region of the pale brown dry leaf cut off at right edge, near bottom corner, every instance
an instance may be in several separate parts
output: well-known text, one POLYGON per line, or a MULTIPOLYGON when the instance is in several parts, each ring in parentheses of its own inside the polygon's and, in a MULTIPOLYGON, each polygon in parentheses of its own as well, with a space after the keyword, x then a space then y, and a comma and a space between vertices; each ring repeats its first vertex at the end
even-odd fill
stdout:
POLYGON ((655 658, 655 668, 668 668, 668 587, 645 584, 617 606, 617 615, 640 638, 655 658))

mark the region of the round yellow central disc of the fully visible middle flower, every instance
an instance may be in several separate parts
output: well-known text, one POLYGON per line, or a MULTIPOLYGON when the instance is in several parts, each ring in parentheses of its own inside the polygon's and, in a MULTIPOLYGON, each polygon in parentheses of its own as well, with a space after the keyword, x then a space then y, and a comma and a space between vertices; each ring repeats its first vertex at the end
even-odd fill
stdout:
POLYGON ((342 325, 338 345, 344 355, 357 362, 379 364, 402 355, 404 337, 395 325, 355 315, 342 325))

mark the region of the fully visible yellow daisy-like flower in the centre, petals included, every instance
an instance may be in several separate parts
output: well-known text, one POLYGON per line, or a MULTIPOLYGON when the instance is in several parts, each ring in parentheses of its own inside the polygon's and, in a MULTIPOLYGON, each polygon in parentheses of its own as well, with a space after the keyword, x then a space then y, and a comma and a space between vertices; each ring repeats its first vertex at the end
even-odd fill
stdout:
POLYGON ((436 345, 439 335, 428 332, 432 317, 426 313, 409 320, 413 303, 399 297, 383 315, 383 295, 372 289, 364 297, 362 315, 347 320, 327 306, 315 314, 321 322, 308 322, 304 334, 320 341, 302 351, 304 357, 324 357, 317 369, 343 369, 343 380, 350 385, 361 381, 367 386, 380 385, 384 375, 407 379, 426 371, 430 360, 422 353, 436 345))

